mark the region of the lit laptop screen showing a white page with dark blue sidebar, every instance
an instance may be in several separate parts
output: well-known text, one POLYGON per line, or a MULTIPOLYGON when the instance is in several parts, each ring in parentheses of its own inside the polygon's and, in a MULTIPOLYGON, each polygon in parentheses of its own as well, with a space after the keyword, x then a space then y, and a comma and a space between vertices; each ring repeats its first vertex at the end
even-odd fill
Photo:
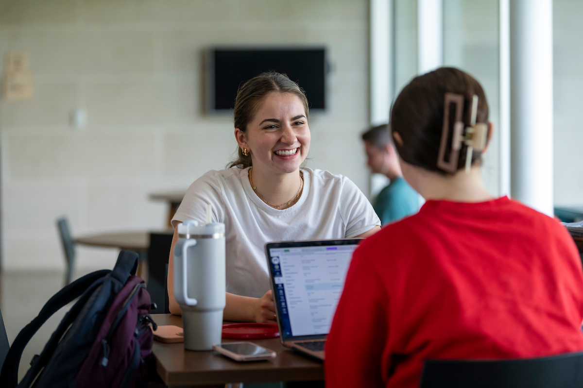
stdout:
POLYGON ((328 334, 356 244, 270 248, 285 336, 328 334))

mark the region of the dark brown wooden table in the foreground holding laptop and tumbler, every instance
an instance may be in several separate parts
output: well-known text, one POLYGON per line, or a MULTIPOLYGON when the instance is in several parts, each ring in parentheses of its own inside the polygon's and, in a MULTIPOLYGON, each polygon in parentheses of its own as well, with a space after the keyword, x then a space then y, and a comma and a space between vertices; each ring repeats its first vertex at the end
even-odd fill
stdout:
MULTIPOLYGON (((153 314, 152 318, 160 325, 182 327, 180 316, 153 314)), ((152 352, 156 357, 156 371, 168 386, 324 380, 322 362, 283 347, 279 338, 250 341, 275 351, 277 357, 268 361, 237 362, 215 351, 189 351, 184 350, 183 343, 163 344, 154 341, 152 352)))

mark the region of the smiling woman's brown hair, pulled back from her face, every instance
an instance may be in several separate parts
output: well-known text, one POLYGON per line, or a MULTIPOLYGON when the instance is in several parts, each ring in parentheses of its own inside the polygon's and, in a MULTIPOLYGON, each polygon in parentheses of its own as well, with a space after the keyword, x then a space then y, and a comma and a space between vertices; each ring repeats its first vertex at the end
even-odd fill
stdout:
MULTIPOLYGON (((274 71, 261 73, 248 80, 237 91, 235 98, 234 125, 243 133, 247 133, 247 124, 253 119, 259 104, 265 97, 274 91, 279 93, 291 93, 300 98, 304 105, 305 118, 308 119, 308 99, 305 92, 297 83, 274 71)), ((231 162, 229 167, 247 168, 251 167, 251 155, 243 155, 243 150, 237 147, 237 159, 231 162)))

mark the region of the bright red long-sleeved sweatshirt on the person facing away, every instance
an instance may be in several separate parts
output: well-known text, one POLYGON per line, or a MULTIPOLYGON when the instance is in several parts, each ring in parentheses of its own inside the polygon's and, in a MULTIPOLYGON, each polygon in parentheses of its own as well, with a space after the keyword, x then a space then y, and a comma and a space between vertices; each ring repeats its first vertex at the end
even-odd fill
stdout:
POLYGON ((417 387, 426 359, 583 350, 583 272, 552 218, 507 197, 427 201, 354 251, 326 386, 417 387))

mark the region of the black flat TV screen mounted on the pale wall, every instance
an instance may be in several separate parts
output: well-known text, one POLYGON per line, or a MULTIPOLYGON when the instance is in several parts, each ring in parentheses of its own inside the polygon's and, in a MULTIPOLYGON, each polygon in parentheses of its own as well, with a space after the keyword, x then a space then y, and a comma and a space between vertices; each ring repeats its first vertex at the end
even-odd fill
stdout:
POLYGON ((210 112, 232 110, 238 88, 252 77, 270 70, 286 73, 297 82, 305 90, 310 109, 326 108, 324 48, 216 48, 210 50, 207 66, 207 108, 210 112))

